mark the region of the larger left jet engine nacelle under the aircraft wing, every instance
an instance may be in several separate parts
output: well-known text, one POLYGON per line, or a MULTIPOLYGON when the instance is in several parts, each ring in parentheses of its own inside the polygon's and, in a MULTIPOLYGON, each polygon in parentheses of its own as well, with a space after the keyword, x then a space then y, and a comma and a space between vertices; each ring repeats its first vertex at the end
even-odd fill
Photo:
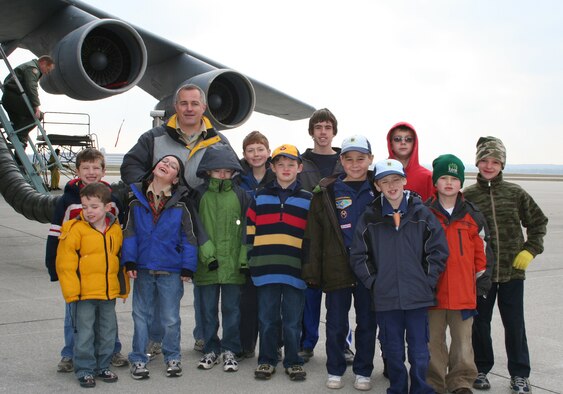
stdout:
POLYGON ((41 78, 41 87, 77 100, 99 100, 126 92, 147 68, 141 36, 115 19, 95 20, 67 34, 51 56, 55 69, 41 78))

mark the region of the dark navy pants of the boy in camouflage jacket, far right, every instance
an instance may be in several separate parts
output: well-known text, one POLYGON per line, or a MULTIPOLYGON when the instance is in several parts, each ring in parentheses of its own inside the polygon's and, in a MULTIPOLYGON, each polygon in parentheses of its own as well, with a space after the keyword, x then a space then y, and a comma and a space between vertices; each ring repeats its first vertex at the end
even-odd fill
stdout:
POLYGON ((473 351, 479 372, 488 373, 495 363, 491 319, 495 300, 504 326, 504 345, 510 376, 530 376, 530 354, 524 324, 524 281, 511 280, 493 283, 487 298, 477 298, 477 312, 473 319, 473 351))

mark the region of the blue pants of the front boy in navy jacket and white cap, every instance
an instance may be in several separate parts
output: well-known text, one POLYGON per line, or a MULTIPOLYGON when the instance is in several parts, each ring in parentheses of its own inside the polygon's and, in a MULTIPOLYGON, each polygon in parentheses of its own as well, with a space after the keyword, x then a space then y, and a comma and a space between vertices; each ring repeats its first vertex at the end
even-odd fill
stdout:
POLYGON ((379 326, 379 341, 389 373, 390 386, 387 393, 434 394, 434 389, 426 383, 426 371, 430 361, 427 308, 377 311, 376 320, 379 326), (405 367, 405 334, 410 364, 408 375, 405 367))

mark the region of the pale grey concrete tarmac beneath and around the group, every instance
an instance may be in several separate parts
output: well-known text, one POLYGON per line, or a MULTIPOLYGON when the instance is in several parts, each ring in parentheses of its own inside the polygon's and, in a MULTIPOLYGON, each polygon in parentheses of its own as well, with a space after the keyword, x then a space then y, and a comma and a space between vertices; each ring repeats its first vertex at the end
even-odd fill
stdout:
MULTIPOLYGON (((530 265, 525 286, 526 326, 532 361, 533 393, 563 392, 563 182, 518 181, 530 192, 549 217, 545 252, 530 265)), ((0 198, 0 392, 74 393, 82 389, 73 373, 57 373, 63 345, 64 301, 58 282, 50 282, 44 265, 48 224, 27 220, 0 198)), ((324 309, 324 308, 323 308, 324 309)), ((131 301, 118 303, 117 317, 123 353, 131 349, 133 322, 131 301)), ((167 378, 162 356, 149 363, 150 379, 136 381, 128 368, 113 368, 116 383, 97 382, 93 390, 107 393, 325 393, 356 392, 354 374, 348 368, 345 387, 329 390, 325 362, 325 319, 321 317, 320 340, 315 356, 305 364, 307 379, 292 382, 281 364, 269 381, 254 379, 257 359, 240 362, 236 373, 223 372, 222 365, 197 369, 200 353, 193 350, 193 292, 186 284, 181 304, 183 376, 167 378)), ((354 321, 354 312, 350 312, 354 321)), ((504 334, 495 309, 493 321, 496 363, 489 374, 487 393, 510 393, 506 369, 504 334)), ((355 345, 355 344, 354 344, 355 345)), ((353 346, 354 346, 353 345, 353 346)), ((373 393, 385 393, 388 381, 376 355, 372 374, 373 393)), ((475 390, 476 393, 479 391, 475 390)))

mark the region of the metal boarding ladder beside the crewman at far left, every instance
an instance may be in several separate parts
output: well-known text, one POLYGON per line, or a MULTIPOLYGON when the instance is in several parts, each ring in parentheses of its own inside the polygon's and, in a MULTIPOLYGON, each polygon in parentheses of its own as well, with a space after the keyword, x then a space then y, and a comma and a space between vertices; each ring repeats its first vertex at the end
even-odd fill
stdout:
MULTIPOLYGON (((27 108, 28 108, 30 114, 33 115, 34 111, 33 111, 33 108, 31 106, 31 103, 30 103, 27 95, 25 94, 25 91, 23 90, 20 81, 18 80, 16 74, 14 73, 14 70, 13 70, 12 66, 10 65, 10 62, 8 61, 8 56, 6 55, 6 52, 4 51, 4 48, 2 47, 2 45, 0 45, 0 57, 4 61, 4 64, 6 65, 6 68, 9 71, 9 74, 16 81, 16 84, 18 86, 20 94, 22 95, 23 100, 24 100, 25 104, 27 105, 27 108)), ((2 82, 0 82, 0 89, 2 90, 2 94, 3 94, 4 93, 4 85, 2 84, 2 82)), ((1 104, 1 101, 0 101, 0 104, 1 104)), ((56 166, 59 167, 59 169, 62 170, 63 167, 61 165, 59 157, 55 153, 55 150, 53 149, 53 146, 51 145, 51 142, 49 141, 49 138, 47 137, 47 133, 45 133, 45 129, 43 128, 43 125, 39 122, 39 119, 34 119, 33 124, 37 127, 38 134, 42 135, 43 142, 44 142, 45 145, 48 146, 50 154, 52 154, 55 157, 55 163, 52 164, 52 165, 56 165, 56 166)), ((38 160, 36 161, 36 163, 34 165, 31 162, 31 160, 29 159, 29 157, 27 156, 27 154, 25 153, 25 146, 23 145, 23 143, 19 140, 19 138, 17 136, 18 131, 24 130, 31 125, 32 124, 29 124, 27 126, 24 126, 21 129, 14 130, 12 122, 10 122, 10 120, 8 119, 8 115, 7 115, 6 111, 4 110, 4 107, 2 105, 0 105, 0 128, 2 129, 2 133, 1 133, 2 138, 4 138, 4 140, 6 141, 6 145, 11 148, 10 153, 12 154, 14 161, 18 164, 20 171, 21 171, 22 175, 24 176, 24 178, 29 182, 29 184, 31 184, 31 186, 35 190, 37 190, 38 192, 43 193, 43 194, 48 194, 49 191, 48 191, 47 185, 43 182, 43 179, 41 177, 41 173, 46 172, 47 169, 49 168, 49 165, 47 164, 47 160, 44 159, 44 156, 39 155, 38 150, 37 150, 37 146, 35 145, 35 143, 33 141, 29 140, 28 144, 31 147, 31 149, 33 150, 33 153, 34 153, 33 156, 38 158, 38 160)))

